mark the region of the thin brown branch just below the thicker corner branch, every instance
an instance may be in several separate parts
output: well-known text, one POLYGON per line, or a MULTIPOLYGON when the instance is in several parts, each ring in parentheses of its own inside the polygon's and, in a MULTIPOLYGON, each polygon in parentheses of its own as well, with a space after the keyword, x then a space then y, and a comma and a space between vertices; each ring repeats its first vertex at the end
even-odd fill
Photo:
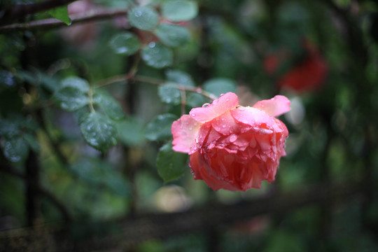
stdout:
MULTIPOLYGON (((82 22, 104 20, 126 14, 127 10, 92 10, 85 14, 71 15, 70 18, 72 21, 71 25, 76 25, 82 22)), ((0 27, 0 34, 14 31, 29 31, 34 29, 53 29, 57 27, 67 27, 67 25, 64 22, 57 20, 55 18, 48 18, 44 20, 35 20, 26 23, 4 25, 0 27)))

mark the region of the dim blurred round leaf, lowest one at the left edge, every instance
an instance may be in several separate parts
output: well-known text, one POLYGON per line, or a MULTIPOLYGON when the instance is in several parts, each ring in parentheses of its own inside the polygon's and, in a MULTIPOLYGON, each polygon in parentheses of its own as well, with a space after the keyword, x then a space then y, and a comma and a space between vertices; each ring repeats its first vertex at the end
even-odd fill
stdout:
POLYGON ((27 142, 21 137, 7 139, 2 143, 4 156, 10 162, 21 162, 27 159, 29 147, 27 142))

